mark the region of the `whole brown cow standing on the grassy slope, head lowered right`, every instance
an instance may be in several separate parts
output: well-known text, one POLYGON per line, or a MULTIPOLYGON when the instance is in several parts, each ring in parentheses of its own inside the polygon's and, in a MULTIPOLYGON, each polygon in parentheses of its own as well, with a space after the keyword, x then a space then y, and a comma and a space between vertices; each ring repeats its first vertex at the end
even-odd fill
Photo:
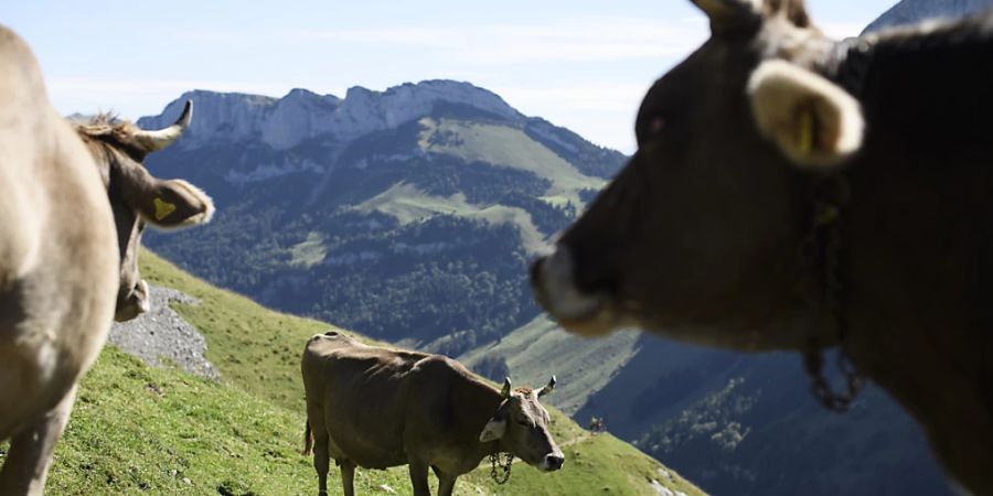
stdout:
POLYGON ((301 365, 307 392, 303 454, 313 450, 320 495, 328 494, 328 465, 341 467, 345 496, 353 496, 355 467, 409 465, 415 496, 429 496, 428 467, 438 494, 451 495, 456 478, 491 454, 509 452, 544 472, 565 457, 548 432, 538 390, 503 390, 482 382, 440 355, 366 346, 338 332, 310 338, 301 365))

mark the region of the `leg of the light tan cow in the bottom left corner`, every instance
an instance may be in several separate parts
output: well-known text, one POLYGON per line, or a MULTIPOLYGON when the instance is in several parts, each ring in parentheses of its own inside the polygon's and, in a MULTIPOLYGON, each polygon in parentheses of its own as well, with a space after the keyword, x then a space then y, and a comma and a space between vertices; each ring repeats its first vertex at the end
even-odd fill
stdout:
POLYGON ((75 399, 73 386, 45 417, 11 439, 7 462, 0 470, 0 494, 40 496, 44 492, 52 452, 68 422, 75 399))

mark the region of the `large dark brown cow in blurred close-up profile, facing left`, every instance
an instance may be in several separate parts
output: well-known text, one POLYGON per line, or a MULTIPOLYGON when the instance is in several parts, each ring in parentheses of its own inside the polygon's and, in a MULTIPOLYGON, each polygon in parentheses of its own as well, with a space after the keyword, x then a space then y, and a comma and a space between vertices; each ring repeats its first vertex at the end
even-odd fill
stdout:
POLYGON ((799 0, 694 3, 711 39, 649 90, 536 299, 578 334, 801 352, 835 409, 864 375, 993 494, 993 15, 834 42, 799 0))

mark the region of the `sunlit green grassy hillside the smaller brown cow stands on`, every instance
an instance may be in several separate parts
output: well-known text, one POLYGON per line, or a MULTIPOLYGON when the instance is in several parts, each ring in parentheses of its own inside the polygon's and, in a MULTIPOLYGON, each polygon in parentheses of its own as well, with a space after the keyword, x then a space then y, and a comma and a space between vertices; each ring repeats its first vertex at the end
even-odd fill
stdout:
MULTIPOLYGON (((224 377, 210 382, 156 369, 113 347, 82 384, 55 454, 47 494, 302 495, 316 493, 310 460, 299 454, 303 392, 299 355, 329 325, 268 311, 143 255, 149 282, 202 302, 175 310, 205 335, 207 358, 224 377)), ((516 464, 509 484, 489 470, 460 478, 457 493, 520 495, 658 494, 650 482, 701 494, 661 464, 610 435, 588 436, 558 411, 553 431, 566 453, 560 472, 516 464), (666 474, 669 477, 666 477, 666 474)), ((360 471, 360 494, 385 485, 409 494, 406 468, 360 471)), ((340 494, 338 474, 329 486, 340 494)))

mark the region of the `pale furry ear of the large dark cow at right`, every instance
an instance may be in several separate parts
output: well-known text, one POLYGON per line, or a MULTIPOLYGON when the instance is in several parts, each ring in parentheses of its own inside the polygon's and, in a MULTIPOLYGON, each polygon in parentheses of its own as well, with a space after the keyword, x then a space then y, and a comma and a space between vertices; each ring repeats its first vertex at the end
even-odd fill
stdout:
POLYGON ((759 132, 794 164, 830 170, 862 147, 862 108, 847 91, 786 61, 751 74, 748 96, 759 132))

